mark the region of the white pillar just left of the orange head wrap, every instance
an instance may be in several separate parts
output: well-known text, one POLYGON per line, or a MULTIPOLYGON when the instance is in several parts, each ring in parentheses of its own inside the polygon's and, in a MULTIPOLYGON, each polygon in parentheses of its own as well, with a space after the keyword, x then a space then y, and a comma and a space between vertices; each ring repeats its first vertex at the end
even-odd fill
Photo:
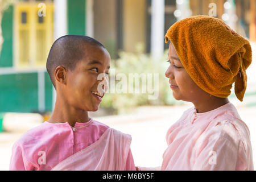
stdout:
POLYGON ((164 0, 151 4, 151 56, 157 60, 164 52, 164 0))

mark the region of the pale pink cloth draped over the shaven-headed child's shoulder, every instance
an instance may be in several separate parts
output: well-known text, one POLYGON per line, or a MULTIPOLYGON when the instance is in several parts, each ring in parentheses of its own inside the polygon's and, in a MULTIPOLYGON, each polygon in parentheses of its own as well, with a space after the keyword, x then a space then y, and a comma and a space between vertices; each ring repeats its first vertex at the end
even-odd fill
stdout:
POLYGON ((122 171, 125 169, 131 136, 109 128, 100 139, 69 156, 53 171, 122 171))

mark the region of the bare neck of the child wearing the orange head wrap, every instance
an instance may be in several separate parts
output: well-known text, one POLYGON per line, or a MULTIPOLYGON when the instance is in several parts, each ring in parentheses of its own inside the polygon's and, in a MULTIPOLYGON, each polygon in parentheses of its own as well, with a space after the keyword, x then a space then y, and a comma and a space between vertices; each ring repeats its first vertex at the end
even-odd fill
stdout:
POLYGON ((205 113, 205 112, 217 109, 218 107, 221 107, 228 103, 229 103, 228 98, 219 98, 215 96, 211 96, 209 100, 204 100, 204 101, 195 102, 195 103, 193 102, 197 113, 205 113))

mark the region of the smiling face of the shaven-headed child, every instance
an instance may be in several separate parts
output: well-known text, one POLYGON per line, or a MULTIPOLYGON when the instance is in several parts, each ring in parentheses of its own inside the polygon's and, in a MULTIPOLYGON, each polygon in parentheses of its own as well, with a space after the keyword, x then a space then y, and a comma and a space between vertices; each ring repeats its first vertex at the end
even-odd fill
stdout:
POLYGON ((102 80, 108 80, 110 55, 105 48, 88 46, 84 57, 76 64, 75 69, 66 70, 61 93, 67 105, 80 110, 96 111, 105 94, 103 88, 108 88, 108 85, 102 85, 102 80), (105 78, 98 80, 100 74, 105 75, 105 78), (102 90, 98 90, 99 84, 102 85, 102 90))

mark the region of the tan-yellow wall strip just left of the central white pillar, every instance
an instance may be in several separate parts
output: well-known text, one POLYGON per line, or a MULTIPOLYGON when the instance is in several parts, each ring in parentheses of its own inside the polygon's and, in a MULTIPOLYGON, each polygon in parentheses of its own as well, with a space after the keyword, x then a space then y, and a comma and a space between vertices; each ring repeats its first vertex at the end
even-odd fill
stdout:
POLYGON ((137 43, 146 46, 146 1, 123 1, 123 48, 135 52, 137 43))

